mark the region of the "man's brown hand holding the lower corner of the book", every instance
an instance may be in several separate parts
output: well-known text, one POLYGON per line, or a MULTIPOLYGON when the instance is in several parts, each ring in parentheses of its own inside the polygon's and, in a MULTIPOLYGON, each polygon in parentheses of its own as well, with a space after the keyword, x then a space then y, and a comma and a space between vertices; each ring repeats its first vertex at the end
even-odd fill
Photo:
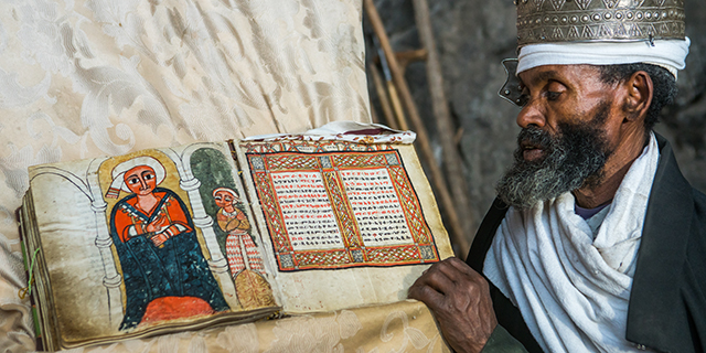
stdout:
POLYGON ((456 257, 427 269, 408 297, 429 307, 456 352, 480 352, 498 325, 488 282, 456 257))

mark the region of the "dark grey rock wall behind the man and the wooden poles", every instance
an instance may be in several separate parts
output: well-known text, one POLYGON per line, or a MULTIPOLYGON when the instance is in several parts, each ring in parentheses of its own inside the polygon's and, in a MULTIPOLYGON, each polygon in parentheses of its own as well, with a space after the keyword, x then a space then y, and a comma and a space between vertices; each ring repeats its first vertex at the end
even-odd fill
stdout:
MULTIPOLYGON (((375 4, 396 52, 420 47, 411 0, 375 0, 375 4)), ((515 6, 512 0, 429 0, 429 7, 474 205, 460 215, 480 221, 495 195, 495 182, 512 162, 520 130, 515 124, 518 108, 496 94, 505 81, 500 62, 516 57, 515 6)), ((674 145, 687 180, 706 191, 706 7, 704 0, 685 0, 685 10, 691 53, 686 69, 678 75, 678 99, 664 109, 663 122, 655 129, 674 145)), ((365 31, 372 32, 370 25, 365 31)), ((370 45, 372 60, 375 50, 370 45)), ((440 157, 438 139, 454 137, 435 132, 425 64, 408 65, 405 76, 440 157)), ((372 84, 368 87, 373 107, 382 116, 375 89, 372 84)))

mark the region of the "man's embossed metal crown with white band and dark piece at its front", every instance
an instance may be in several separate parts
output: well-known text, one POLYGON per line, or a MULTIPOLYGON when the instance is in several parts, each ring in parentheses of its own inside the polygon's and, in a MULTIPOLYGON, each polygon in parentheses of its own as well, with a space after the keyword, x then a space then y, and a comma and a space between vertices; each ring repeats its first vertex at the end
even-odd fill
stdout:
POLYGON ((684 0, 515 0, 515 4, 520 61, 503 61, 507 81, 499 92, 513 104, 522 105, 514 76, 533 66, 644 62, 663 66, 675 77, 684 68, 689 45, 684 0))

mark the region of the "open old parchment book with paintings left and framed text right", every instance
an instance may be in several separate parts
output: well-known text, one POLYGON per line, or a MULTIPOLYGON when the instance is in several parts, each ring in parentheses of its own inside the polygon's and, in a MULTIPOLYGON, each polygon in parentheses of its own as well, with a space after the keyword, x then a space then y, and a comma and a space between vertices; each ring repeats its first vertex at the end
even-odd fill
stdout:
POLYGON ((19 218, 44 349, 404 300, 452 250, 413 147, 373 140, 31 168, 19 218))

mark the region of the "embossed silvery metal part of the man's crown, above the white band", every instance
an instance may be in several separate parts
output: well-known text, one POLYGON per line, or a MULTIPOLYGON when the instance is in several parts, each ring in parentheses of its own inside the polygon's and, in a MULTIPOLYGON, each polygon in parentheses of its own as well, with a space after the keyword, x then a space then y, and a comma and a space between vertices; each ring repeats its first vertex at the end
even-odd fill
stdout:
POLYGON ((515 0, 517 44, 684 39, 684 0, 515 0))

